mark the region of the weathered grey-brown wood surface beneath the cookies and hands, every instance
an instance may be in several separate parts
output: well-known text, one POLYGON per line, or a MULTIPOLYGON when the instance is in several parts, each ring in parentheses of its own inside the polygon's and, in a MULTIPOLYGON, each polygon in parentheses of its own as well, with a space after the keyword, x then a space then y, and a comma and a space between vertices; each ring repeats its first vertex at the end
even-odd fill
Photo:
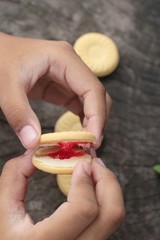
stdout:
MULTIPOLYGON (((117 43, 118 69, 101 79, 113 111, 98 154, 121 182, 127 216, 112 240, 160 239, 160 4, 158 0, 1 0, 0 31, 74 43, 97 31, 117 43)), ((64 109, 32 103, 44 131, 64 109)), ((23 149, 0 113, 0 167, 23 149)), ((37 172, 26 204, 33 219, 48 216, 65 197, 55 176, 37 172)))

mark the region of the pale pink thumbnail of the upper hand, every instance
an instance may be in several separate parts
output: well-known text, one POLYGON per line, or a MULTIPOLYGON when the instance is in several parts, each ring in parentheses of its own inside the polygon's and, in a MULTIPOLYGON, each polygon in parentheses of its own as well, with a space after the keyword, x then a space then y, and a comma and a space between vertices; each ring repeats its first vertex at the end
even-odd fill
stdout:
POLYGON ((36 130, 31 125, 24 126, 18 135, 25 148, 30 148, 38 137, 36 130))

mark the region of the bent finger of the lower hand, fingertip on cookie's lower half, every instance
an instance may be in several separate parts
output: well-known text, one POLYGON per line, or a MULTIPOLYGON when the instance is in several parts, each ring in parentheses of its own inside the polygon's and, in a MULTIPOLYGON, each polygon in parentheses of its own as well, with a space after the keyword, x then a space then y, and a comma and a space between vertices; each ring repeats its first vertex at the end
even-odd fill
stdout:
POLYGON ((76 166, 73 173, 68 202, 35 226, 36 239, 75 240, 77 236, 96 218, 97 201, 90 179, 87 163, 76 166), (37 229, 39 229, 37 231, 37 229))

